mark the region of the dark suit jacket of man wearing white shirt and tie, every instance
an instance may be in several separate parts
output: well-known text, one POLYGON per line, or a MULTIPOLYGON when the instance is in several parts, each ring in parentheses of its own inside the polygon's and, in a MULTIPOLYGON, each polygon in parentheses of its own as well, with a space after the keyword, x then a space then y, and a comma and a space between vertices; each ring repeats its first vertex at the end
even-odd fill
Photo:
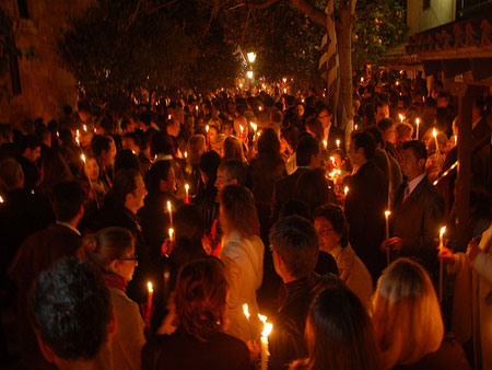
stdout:
POLYGON ((403 203, 406 186, 402 184, 396 195, 391 235, 401 238, 401 256, 417 259, 432 273, 437 263, 434 239, 438 236, 444 222, 444 200, 429 178, 424 177, 403 203))

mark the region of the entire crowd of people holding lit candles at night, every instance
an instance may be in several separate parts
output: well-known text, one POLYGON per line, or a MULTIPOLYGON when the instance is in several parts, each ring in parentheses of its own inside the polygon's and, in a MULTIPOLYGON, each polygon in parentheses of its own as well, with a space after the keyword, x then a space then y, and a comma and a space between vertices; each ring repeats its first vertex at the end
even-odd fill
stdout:
POLYGON ((467 248, 456 100, 363 81, 348 125, 279 88, 0 125, 4 363, 492 369, 487 94, 467 248))

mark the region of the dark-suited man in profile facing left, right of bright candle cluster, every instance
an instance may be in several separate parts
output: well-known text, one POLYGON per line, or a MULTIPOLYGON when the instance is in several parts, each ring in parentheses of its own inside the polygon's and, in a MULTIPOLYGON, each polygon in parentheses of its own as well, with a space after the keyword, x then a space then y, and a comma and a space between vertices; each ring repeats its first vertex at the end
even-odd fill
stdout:
POLYGON ((379 251, 385 233, 385 209, 388 201, 388 182, 373 162, 376 143, 366 131, 354 131, 350 138, 349 157, 355 169, 348 177, 349 193, 345 216, 350 243, 370 270, 374 281, 384 267, 379 251))

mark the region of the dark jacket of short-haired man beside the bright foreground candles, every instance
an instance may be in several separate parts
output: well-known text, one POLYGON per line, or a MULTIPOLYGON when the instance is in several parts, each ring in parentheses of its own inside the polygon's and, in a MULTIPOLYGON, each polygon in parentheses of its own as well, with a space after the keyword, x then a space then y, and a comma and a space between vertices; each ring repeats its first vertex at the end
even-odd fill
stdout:
POLYGON ((311 303, 332 282, 333 278, 328 275, 321 277, 312 273, 283 286, 286 297, 273 320, 273 331, 269 336, 269 369, 283 369, 286 363, 307 356, 304 328, 311 303))

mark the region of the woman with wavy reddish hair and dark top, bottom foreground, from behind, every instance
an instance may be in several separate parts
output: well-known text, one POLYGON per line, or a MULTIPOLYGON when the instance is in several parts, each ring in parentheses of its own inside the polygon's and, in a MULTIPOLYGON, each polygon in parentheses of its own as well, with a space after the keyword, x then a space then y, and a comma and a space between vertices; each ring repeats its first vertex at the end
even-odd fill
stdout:
POLYGON ((227 291, 224 265, 215 257, 185 265, 175 292, 177 328, 149 340, 142 350, 142 368, 249 370, 246 344, 224 333, 227 291))

